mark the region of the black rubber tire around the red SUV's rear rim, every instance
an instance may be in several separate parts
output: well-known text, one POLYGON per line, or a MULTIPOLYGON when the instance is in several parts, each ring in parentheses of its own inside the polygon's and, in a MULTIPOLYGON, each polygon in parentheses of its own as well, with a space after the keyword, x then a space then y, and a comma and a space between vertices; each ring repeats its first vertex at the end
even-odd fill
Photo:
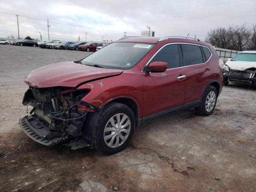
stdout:
POLYGON ((205 89, 204 94, 202 96, 201 105, 199 107, 195 108, 196 114, 201 115, 201 116, 208 116, 208 115, 212 114, 212 112, 213 112, 213 110, 216 106, 217 98, 218 98, 218 94, 217 94, 216 88, 214 86, 211 86, 211 85, 208 86, 205 89), (206 110, 206 98, 207 98, 208 94, 212 91, 215 93, 216 100, 215 100, 214 107, 212 108, 212 110, 207 111, 206 110))

